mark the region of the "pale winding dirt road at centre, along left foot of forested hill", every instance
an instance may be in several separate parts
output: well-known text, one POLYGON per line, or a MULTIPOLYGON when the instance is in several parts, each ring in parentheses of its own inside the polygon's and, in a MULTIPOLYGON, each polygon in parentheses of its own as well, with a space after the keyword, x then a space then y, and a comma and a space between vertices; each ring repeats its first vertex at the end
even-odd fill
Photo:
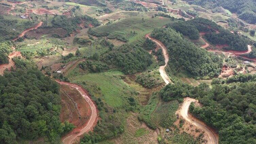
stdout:
MULTIPOLYGON (((149 34, 150 34, 150 33, 149 33, 149 34)), ((166 85, 168 85, 169 83, 173 83, 173 82, 170 80, 170 78, 168 77, 168 75, 166 74, 165 70, 164 70, 164 68, 167 66, 168 61, 169 61, 169 55, 168 55, 168 53, 167 53, 167 49, 166 49, 166 47, 164 46, 164 44, 163 44, 161 41, 150 37, 149 34, 146 34, 145 37, 151 39, 151 40, 154 41, 156 44, 158 44, 158 45, 162 48, 162 52, 163 52, 163 55, 164 55, 165 65, 159 67, 160 75, 161 75, 161 77, 163 78, 163 80, 164 80, 164 82, 165 82, 166 85)))

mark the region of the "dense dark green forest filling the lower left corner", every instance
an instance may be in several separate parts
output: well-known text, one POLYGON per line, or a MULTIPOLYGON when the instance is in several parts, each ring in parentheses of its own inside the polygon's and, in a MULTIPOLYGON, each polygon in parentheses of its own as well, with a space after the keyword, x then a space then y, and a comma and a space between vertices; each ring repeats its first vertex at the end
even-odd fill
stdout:
POLYGON ((73 129, 60 121, 59 85, 33 62, 13 58, 16 70, 0 76, 0 143, 44 138, 52 144, 73 129))

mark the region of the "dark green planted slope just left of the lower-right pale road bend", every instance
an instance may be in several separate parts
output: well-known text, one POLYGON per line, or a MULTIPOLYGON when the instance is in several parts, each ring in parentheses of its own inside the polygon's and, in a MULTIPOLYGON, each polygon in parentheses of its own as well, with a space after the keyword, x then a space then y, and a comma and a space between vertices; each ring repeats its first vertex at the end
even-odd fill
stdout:
POLYGON ((175 112, 178 107, 179 103, 177 101, 162 104, 152 114, 152 120, 162 127, 173 126, 173 123, 177 120, 175 112))

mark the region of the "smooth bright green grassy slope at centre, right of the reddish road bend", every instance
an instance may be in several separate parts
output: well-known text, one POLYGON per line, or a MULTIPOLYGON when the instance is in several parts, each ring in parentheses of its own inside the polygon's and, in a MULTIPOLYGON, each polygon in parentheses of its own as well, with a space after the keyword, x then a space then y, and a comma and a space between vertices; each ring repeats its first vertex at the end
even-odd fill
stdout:
MULTIPOLYGON (((102 99, 111 107, 121 108, 129 105, 127 98, 136 93, 120 78, 123 74, 118 71, 105 73, 90 73, 76 77, 69 77, 73 83, 85 82, 87 86, 96 86, 101 91, 102 99)), ((89 88, 90 89, 90 88, 89 88)), ((87 89, 88 90, 88 89, 87 89)))

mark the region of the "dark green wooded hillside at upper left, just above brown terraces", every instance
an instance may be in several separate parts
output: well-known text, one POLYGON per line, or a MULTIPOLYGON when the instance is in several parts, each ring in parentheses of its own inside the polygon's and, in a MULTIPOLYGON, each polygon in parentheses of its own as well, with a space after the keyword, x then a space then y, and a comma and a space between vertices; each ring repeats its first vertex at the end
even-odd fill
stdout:
POLYGON ((72 32, 75 32, 77 29, 81 29, 79 24, 83 24, 84 26, 88 26, 88 24, 92 24, 93 26, 99 26, 100 22, 92 18, 90 16, 76 16, 68 18, 64 15, 54 16, 52 19, 45 21, 43 26, 40 28, 63 28, 68 32, 68 35, 72 32))

